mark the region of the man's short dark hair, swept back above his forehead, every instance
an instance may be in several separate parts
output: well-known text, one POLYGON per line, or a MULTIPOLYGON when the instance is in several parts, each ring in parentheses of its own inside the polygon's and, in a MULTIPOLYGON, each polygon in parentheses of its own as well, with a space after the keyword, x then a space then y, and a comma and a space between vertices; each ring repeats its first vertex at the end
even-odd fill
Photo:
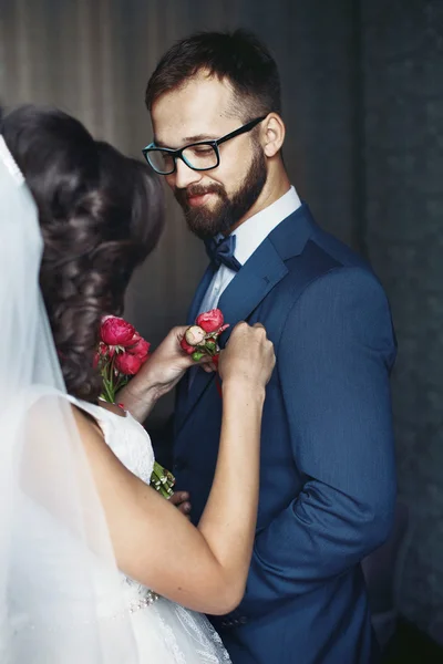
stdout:
POLYGON ((174 44, 162 58, 146 89, 146 106, 205 71, 234 90, 230 114, 245 122, 272 111, 281 114, 280 79, 275 60, 257 37, 246 30, 198 32, 174 44))

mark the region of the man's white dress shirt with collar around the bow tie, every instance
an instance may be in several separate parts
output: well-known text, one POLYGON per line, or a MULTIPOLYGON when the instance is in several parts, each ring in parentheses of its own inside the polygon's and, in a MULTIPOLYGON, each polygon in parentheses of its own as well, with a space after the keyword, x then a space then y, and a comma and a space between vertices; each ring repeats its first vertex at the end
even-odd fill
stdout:
MULTIPOLYGON (((284 194, 278 200, 270 206, 249 217, 233 232, 236 236, 236 248, 234 251, 235 258, 245 264, 256 249, 261 245, 265 238, 279 225, 284 219, 289 217, 301 206, 300 198, 297 195, 295 187, 284 194)), ((224 290, 231 282, 236 272, 225 264, 220 264, 213 277, 212 282, 203 298, 199 313, 209 311, 218 305, 218 300, 224 290)))

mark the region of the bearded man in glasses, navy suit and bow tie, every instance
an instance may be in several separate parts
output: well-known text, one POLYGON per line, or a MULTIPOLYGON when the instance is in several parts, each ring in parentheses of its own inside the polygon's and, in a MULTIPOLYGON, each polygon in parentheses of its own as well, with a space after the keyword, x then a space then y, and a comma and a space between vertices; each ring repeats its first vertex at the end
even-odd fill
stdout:
MULTIPOLYGON (((395 499, 387 298, 291 187, 277 66, 255 37, 183 40, 161 60, 146 103, 145 156, 212 256, 188 322, 214 307, 231 326, 259 321, 277 354, 246 593, 214 624, 235 664, 374 662, 360 561, 387 539, 395 499)), ((220 412, 214 374, 195 369, 178 387, 174 442, 194 522, 220 412)), ((241 483, 241 468, 233 473, 241 483)))

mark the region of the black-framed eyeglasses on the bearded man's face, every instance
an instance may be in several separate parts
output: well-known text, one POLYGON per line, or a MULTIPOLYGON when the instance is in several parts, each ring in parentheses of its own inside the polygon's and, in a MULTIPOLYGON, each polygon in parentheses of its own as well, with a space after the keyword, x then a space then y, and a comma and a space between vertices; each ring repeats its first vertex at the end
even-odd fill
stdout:
POLYGON ((217 168, 220 163, 220 153, 218 146, 226 141, 230 141, 240 134, 250 132, 258 123, 262 122, 267 115, 256 117, 250 122, 246 123, 238 129, 226 134, 217 141, 199 141, 198 143, 190 143, 179 149, 172 149, 171 147, 157 147, 155 143, 151 143, 143 148, 143 155, 146 162, 154 168, 159 175, 171 175, 177 168, 177 159, 183 162, 193 170, 210 170, 217 168))

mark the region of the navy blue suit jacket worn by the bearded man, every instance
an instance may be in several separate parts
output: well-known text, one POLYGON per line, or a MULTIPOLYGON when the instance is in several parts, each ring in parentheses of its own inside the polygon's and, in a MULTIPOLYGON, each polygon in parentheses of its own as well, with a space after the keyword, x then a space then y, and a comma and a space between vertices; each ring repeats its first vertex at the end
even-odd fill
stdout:
MULTIPOLYGON (((213 622, 234 664, 374 662, 360 561, 387 539, 395 502, 395 340, 383 289, 302 205, 245 263, 219 308, 231 326, 261 322, 277 364, 246 594, 213 622)), ((198 369, 190 390, 186 378, 178 388, 174 443, 177 488, 190 491, 194 522, 213 481, 220 417, 214 375, 198 369)), ((233 473, 241 483, 241 468, 233 473)))

